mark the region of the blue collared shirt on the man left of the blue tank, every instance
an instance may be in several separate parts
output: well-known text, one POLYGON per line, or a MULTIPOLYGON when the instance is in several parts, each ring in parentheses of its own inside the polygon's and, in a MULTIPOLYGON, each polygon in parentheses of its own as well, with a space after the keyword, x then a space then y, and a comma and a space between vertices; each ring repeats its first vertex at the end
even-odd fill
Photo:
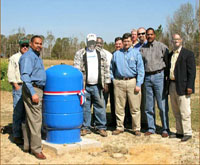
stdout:
POLYGON ((45 86, 46 72, 42 59, 31 48, 19 60, 22 81, 26 84, 31 95, 35 94, 32 83, 45 86))

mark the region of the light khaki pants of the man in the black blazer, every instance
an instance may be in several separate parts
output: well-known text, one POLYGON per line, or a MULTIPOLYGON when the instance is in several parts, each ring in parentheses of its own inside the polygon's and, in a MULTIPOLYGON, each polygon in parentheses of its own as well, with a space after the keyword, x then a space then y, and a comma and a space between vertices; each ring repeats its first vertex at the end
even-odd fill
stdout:
POLYGON ((179 96, 176 93, 175 82, 170 82, 169 94, 172 111, 176 119, 176 133, 192 135, 190 96, 179 96))

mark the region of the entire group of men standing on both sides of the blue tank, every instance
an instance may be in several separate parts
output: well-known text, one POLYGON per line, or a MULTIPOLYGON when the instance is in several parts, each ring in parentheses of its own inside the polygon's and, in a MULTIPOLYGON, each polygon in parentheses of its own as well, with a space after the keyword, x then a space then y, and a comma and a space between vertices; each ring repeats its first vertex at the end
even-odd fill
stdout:
MULTIPOLYGON (((124 132, 125 107, 130 111, 132 131, 141 136, 141 126, 147 124, 145 136, 156 132, 155 101, 160 111, 163 138, 192 137, 190 95, 194 93, 196 66, 194 54, 182 47, 182 38, 172 36, 173 50, 155 40, 153 28, 133 29, 115 38, 115 51, 103 48, 103 39, 90 33, 86 47, 77 51, 74 67, 84 76, 86 102, 83 105, 81 135, 95 131, 107 136, 106 105, 110 94, 112 135, 124 132), (170 133, 168 94, 176 119, 176 134, 170 133), (128 106, 127 106, 128 103, 128 106), (93 120, 91 107, 93 106, 93 120)), ((46 73, 40 52, 42 38, 35 35, 30 42, 19 41, 20 50, 9 59, 8 80, 13 86, 13 136, 16 144, 38 159, 42 153, 42 97, 46 73), (29 48, 30 47, 30 48, 29 48)))

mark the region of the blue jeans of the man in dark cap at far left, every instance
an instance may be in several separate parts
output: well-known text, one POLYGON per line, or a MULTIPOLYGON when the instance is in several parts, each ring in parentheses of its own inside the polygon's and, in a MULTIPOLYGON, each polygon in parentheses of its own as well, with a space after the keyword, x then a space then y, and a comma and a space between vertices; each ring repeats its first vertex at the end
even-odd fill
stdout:
POLYGON ((25 122, 25 108, 22 98, 22 86, 19 90, 13 87, 13 136, 22 137, 22 122, 25 122))

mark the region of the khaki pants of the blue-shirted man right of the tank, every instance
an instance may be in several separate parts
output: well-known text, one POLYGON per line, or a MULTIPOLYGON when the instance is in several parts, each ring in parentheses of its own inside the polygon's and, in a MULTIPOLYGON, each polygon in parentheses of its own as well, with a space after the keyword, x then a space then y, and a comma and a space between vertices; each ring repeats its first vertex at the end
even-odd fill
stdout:
POLYGON ((117 129, 124 131, 125 104, 128 98, 130 113, 132 116, 133 131, 140 131, 140 104, 141 92, 134 92, 136 79, 131 80, 114 80, 115 94, 115 114, 117 129))

